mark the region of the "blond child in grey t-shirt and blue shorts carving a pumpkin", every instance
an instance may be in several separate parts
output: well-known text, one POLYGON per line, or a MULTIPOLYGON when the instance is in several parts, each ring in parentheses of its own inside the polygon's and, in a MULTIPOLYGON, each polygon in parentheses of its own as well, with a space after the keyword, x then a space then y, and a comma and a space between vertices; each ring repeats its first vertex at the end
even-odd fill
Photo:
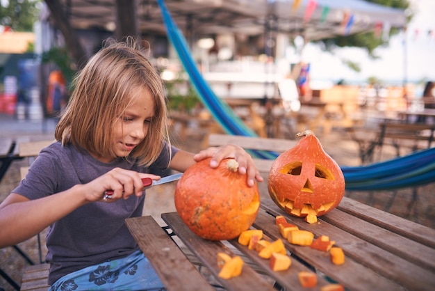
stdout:
POLYGON ((263 178, 238 146, 197 155, 170 146, 163 84, 137 43, 108 41, 77 75, 40 155, 0 205, 0 248, 49 226, 50 290, 159 290, 163 284, 127 230, 142 215, 141 178, 153 169, 185 171, 206 157, 234 157, 247 184, 263 178), (110 199, 104 191, 113 189, 110 199))

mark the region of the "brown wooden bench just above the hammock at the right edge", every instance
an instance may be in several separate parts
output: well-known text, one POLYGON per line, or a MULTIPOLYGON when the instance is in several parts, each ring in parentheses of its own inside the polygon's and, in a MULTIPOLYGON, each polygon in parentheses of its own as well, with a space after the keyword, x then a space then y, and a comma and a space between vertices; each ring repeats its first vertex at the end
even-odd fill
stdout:
POLYGON ((431 124, 382 122, 374 129, 347 127, 346 130, 359 145, 361 164, 374 162, 375 152, 378 160, 381 159, 382 147, 386 145, 393 146, 399 157, 401 148, 411 151, 431 148, 435 141, 435 125, 431 124))

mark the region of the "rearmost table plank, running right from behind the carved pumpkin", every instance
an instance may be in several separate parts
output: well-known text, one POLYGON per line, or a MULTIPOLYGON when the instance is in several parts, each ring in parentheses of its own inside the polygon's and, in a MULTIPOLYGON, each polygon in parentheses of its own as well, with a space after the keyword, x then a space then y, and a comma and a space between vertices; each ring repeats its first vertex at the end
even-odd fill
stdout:
POLYGON ((343 197, 339 210, 435 249, 435 229, 343 197))

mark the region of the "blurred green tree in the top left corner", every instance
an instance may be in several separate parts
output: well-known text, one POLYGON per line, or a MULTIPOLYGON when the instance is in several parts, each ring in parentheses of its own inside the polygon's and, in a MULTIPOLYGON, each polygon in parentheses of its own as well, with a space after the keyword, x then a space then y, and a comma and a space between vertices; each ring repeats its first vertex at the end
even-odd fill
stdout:
POLYGON ((0 25, 9 26, 13 31, 33 31, 33 23, 38 20, 40 3, 40 0, 6 1, 6 6, 0 5, 0 25))

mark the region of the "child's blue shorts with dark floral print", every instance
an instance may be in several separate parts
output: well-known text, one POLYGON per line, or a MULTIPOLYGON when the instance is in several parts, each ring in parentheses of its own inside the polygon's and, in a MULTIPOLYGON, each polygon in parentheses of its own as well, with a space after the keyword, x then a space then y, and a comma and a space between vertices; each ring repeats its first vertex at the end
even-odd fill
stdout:
POLYGON ((149 260, 141 251, 126 258, 102 262, 67 274, 49 291, 165 290, 149 260))

